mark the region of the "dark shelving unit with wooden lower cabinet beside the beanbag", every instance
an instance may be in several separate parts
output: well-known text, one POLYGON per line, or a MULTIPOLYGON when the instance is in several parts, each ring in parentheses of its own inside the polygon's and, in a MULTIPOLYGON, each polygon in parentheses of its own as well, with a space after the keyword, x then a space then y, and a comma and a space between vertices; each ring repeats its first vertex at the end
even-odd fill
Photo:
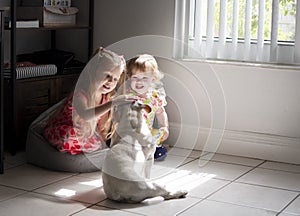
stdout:
MULTIPOLYGON (((75 47, 77 45, 81 45, 79 43, 78 44, 72 43, 71 48, 74 47, 73 50, 74 52, 87 54, 86 56, 87 59, 84 58, 84 60, 82 60, 84 62, 92 56, 94 0, 88 0, 88 1, 74 0, 74 3, 75 2, 78 3, 77 7, 80 10, 83 9, 81 10, 82 12, 85 12, 85 14, 81 13, 83 15, 79 17, 79 19, 76 19, 77 20, 76 25, 41 26, 39 28, 16 28, 17 19, 18 18, 25 19, 26 16, 24 15, 24 17, 22 17, 20 15, 20 11, 17 10, 18 7, 21 6, 19 0, 10 1, 10 19, 12 22, 12 28, 7 27, 5 28, 5 30, 10 31, 9 32, 10 33, 9 54, 10 54, 11 74, 10 77, 6 77, 4 80, 5 87, 7 89, 7 91, 5 91, 6 101, 4 105, 6 106, 6 109, 9 110, 9 115, 5 116, 6 131, 9 134, 6 137, 7 138, 9 137, 9 139, 5 140, 5 144, 12 155, 14 155, 19 148, 25 147, 26 132, 28 129, 28 125, 32 120, 34 120, 33 117, 36 117, 38 114, 40 114, 40 112, 42 112, 44 108, 46 109, 52 106, 59 99, 65 97, 71 90, 71 87, 75 86, 77 78, 84 67, 84 66, 80 67, 80 65, 75 65, 75 66, 70 65, 69 68, 65 68, 62 72, 58 72, 58 74, 56 75, 17 79, 16 76, 17 54, 18 54, 17 51, 19 51, 20 54, 23 53, 23 50, 20 51, 19 48, 24 49, 22 45, 23 44, 27 45, 26 43, 29 40, 29 37, 27 36, 30 36, 30 38, 32 36, 29 34, 27 35, 27 33, 36 34, 37 36, 41 34, 41 37, 44 38, 38 40, 38 42, 43 43, 44 46, 41 46, 43 49, 48 48, 50 45, 51 49, 61 49, 60 47, 65 47, 68 50, 69 44, 66 44, 66 41, 69 42, 69 36, 73 34, 73 31, 76 31, 75 33, 78 34, 79 36, 84 35, 84 37, 87 37, 86 50, 82 50, 81 46, 75 47), (63 32, 64 30, 67 30, 67 32, 63 32), (72 31, 72 33, 71 32, 69 33, 68 30, 72 31), (83 30, 83 32, 81 32, 81 30, 83 30), (45 32, 49 31, 49 34, 51 35, 48 35, 48 32, 44 34, 43 31, 45 32), (85 34, 85 31, 87 34, 85 34), (22 37, 23 34, 24 34, 24 38, 22 37), (57 42, 56 40, 58 40, 58 43, 56 43, 57 42), (46 104, 45 107, 42 107, 42 110, 39 109, 38 112, 35 113, 35 116, 31 116, 32 118, 30 117, 30 121, 29 121, 24 117, 23 112, 25 111, 27 112, 27 110, 30 110, 30 108, 26 107, 27 101, 23 101, 23 100, 25 100, 28 97, 31 97, 37 92, 44 92, 45 95, 47 96, 46 98, 48 98, 47 99, 48 103, 46 104)), ((76 6, 76 4, 74 4, 74 6, 76 6)), ((40 22, 40 24, 43 23, 40 22)), ((76 39, 81 40, 81 37, 77 37, 76 39)), ((32 43, 32 41, 30 42, 32 43)), ((72 42, 72 40, 70 40, 70 42, 72 42)), ((31 44, 28 43, 28 45, 30 46, 31 44)), ((34 104, 34 100, 31 101, 31 104, 34 104)))

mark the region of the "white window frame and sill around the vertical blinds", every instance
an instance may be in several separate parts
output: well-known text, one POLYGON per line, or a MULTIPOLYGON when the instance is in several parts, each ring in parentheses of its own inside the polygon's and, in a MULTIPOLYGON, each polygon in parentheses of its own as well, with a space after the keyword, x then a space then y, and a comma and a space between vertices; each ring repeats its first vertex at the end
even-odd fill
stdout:
MULTIPOLYGON (((266 65, 288 65, 288 66, 300 66, 300 0, 297 0, 296 10, 296 23, 295 23, 295 42, 281 42, 277 41, 276 46, 276 61, 272 60, 270 50, 272 49, 271 41, 263 41, 263 54, 260 60, 255 59, 257 54, 257 40, 250 40, 250 52, 252 56, 248 59, 228 57, 232 53, 227 52, 226 58, 216 57, 216 49, 213 50, 213 55, 203 56, 201 55, 201 49, 199 49, 199 42, 195 41, 195 38, 190 37, 190 3, 191 1, 199 0, 175 0, 175 25, 174 25, 174 45, 173 56, 177 59, 188 60, 201 60, 201 61, 222 61, 222 62, 237 62, 237 63, 253 63, 253 64, 266 64, 266 65), (297 22, 298 20, 298 22, 297 22)), ((274 1, 274 0, 273 0, 274 1)), ((278 1, 278 0, 277 0, 278 1)), ((243 44, 245 39, 238 39, 236 45, 236 51, 233 55, 240 57, 244 50, 243 44)), ((202 38, 200 43, 206 44, 206 39, 202 38)), ((217 46, 219 43, 218 38, 214 38, 213 46, 217 46)), ((225 40, 225 50, 230 47, 232 41, 225 40)))

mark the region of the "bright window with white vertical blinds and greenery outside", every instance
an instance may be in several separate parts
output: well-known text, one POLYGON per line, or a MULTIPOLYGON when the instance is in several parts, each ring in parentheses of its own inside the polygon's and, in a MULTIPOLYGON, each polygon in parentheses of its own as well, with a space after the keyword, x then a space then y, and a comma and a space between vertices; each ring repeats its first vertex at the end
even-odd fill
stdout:
POLYGON ((175 17, 177 58, 300 63, 300 0, 176 0, 175 17))

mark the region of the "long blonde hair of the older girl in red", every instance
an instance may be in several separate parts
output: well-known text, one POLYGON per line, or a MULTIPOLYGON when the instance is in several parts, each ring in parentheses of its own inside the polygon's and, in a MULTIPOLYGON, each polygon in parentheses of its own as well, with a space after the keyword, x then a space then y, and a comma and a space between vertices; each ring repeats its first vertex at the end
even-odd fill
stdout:
MULTIPOLYGON (((98 106, 104 97, 106 97, 107 100, 111 100, 111 98, 114 97, 117 89, 120 88, 124 83, 125 75, 126 62, 123 56, 117 55, 116 53, 110 50, 100 47, 96 50, 91 60, 88 62, 88 64, 82 71, 80 80, 77 84, 79 85, 79 88, 77 88, 77 90, 80 91, 81 89, 83 89, 86 92, 87 106, 88 108, 93 108, 98 106), (116 67, 121 67, 121 69, 123 70, 118 84, 114 90, 107 93, 106 95, 102 95, 102 93, 99 91, 99 86, 96 85, 97 73, 103 73, 104 71, 112 71, 116 67)), ((79 125, 80 128, 83 130, 82 136, 90 137, 93 136, 93 134, 96 132, 98 134, 100 133, 101 135, 103 135, 100 135, 101 137, 107 138, 106 135, 109 134, 109 131, 111 129, 111 121, 112 113, 109 111, 108 119, 105 122, 104 127, 102 127, 101 131, 99 131, 99 127, 97 126, 98 117, 95 116, 95 118, 88 121, 88 125, 79 125)), ((73 115, 73 122, 74 124, 80 124, 80 117, 78 115, 73 115)))

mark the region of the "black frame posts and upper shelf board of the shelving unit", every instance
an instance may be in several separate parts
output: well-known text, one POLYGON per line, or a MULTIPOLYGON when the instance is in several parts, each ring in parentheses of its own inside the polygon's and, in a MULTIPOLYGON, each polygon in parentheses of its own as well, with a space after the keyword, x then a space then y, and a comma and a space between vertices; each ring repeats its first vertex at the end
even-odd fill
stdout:
MULTIPOLYGON (((64 29, 86 29, 88 31, 88 59, 92 56, 93 53, 93 34, 94 34, 94 0, 88 0, 89 4, 89 20, 88 20, 88 26, 87 25, 72 25, 72 26, 58 26, 58 27, 39 27, 39 28, 16 28, 16 20, 17 20, 17 0, 11 0, 10 4, 10 16, 11 16, 11 28, 10 30, 10 67, 11 67, 11 88, 9 89, 11 92, 11 119, 12 119, 12 125, 11 125, 11 132, 13 136, 10 138, 10 144, 9 144, 9 151, 11 155, 15 155, 17 152, 17 139, 16 135, 16 63, 17 63, 17 53, 16 53, 16 36, 17 36, 17 30, 22 29, 31 29, 34 31, 50 31, 51 32, 51 48, 56 47, 56 31, 57 30, 64 30, 64 29)), ((3 86, 3 85, 1 85, 3 86)), ((3 98, 3 97, 1 97, 3 98)), ((1 103, 2 106, 3 103, 1 103)), ((3 136, 1 136, 2 139, 3 136)), ((3 146, 3 145, 1 145, 3 146)))

